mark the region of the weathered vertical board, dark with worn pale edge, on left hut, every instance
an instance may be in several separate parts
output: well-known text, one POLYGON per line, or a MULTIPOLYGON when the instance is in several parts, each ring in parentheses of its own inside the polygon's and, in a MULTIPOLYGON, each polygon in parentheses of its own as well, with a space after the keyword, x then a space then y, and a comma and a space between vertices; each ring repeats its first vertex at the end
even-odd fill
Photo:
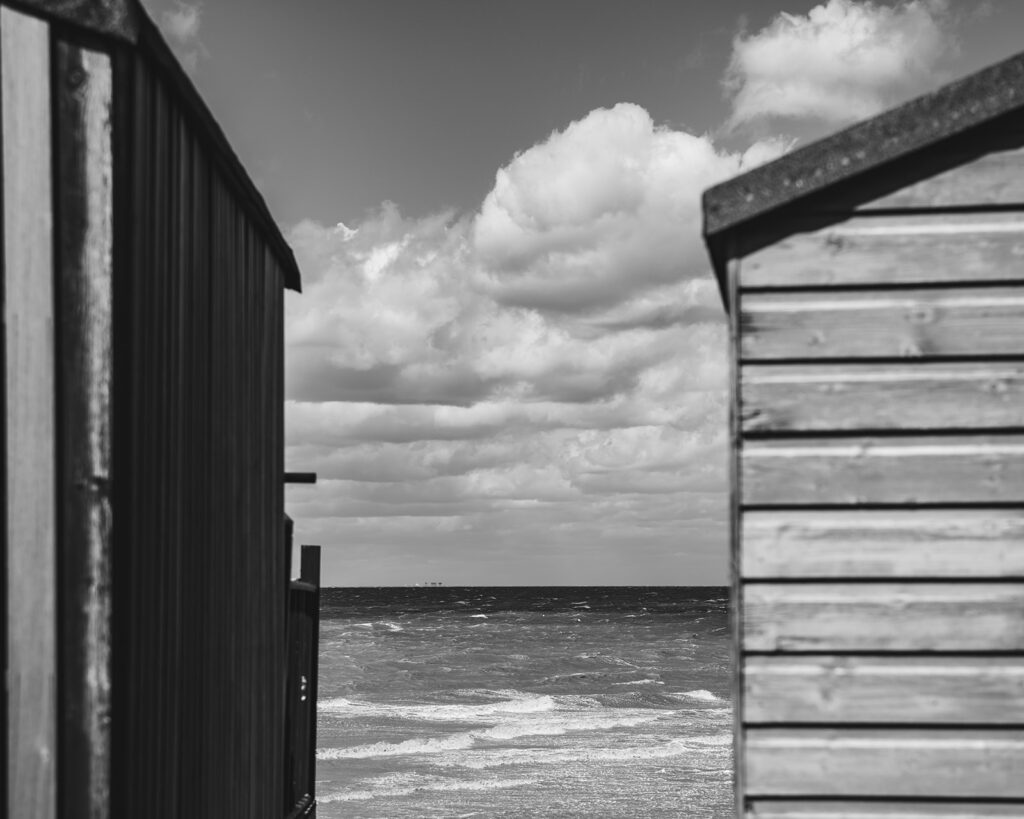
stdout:
POLYGON ((113 74, 106 54, 56 43, 57 390, 61 505, 60 793, 110 815, 113 74))

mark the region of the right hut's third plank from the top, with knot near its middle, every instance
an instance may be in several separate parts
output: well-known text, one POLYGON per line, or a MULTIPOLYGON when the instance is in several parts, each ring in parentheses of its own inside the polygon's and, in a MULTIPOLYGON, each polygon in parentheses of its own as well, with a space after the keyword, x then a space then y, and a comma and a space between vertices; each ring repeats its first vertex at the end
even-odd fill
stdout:
POLYGON ((746 293, 749 360, 1024 354, 1024 288, 746 293))

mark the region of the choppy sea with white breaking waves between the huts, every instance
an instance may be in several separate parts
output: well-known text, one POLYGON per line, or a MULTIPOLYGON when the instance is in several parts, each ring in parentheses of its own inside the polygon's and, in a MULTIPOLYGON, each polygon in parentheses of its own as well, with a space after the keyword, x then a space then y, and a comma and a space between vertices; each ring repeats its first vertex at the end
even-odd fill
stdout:
POLYGON ((731 815, 726 595, 325 590, 318 816, 731 815))

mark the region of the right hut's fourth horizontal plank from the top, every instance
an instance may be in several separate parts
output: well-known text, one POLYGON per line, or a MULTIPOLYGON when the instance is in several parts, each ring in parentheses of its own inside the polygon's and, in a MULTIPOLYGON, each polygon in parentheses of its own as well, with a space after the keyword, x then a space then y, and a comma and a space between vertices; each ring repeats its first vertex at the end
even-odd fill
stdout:
POLYGON ((1024 427, 1024 364, 745 364, 743 432, 1024 427))

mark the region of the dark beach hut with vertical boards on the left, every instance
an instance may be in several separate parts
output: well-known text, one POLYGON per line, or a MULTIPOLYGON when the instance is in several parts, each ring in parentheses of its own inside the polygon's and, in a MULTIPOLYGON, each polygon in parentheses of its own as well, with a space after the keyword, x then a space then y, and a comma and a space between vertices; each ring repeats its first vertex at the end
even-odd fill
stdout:
POLYGON ((135 0, 3 0, 0 87, 6 815, 308 815, 292 253, 135 0))

